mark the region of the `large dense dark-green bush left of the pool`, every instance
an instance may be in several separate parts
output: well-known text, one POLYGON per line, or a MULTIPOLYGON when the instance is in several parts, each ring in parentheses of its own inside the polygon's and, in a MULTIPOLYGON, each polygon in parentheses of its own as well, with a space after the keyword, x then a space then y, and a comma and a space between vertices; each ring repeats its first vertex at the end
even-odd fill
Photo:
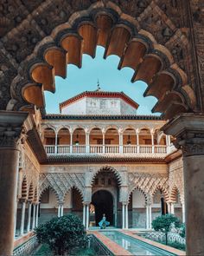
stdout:
POLYGON ((55 217, 35 229, 39 243, 48 244, 54 254, 65 255, 73 248, 86 246, 86 231, 81 220, 67 214, 55 217))

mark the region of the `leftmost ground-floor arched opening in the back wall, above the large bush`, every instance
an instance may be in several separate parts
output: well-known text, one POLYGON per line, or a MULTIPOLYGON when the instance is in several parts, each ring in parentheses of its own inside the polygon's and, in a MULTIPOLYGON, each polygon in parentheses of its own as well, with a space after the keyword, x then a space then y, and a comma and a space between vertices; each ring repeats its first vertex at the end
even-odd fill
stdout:
POLYGON ((39 224, 51 220, 57 216, 58 200, 54 190, 50 187, 45 189, 40 196, 39 224))

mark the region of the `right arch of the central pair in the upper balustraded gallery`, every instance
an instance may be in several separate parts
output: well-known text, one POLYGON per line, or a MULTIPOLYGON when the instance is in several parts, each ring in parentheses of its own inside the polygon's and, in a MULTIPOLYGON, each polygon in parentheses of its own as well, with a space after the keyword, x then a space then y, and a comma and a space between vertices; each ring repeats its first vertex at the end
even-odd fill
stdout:
POLYGON ((105 132, 105 153, 119 153, 119 135, 117 128, 108 128, 105 132))

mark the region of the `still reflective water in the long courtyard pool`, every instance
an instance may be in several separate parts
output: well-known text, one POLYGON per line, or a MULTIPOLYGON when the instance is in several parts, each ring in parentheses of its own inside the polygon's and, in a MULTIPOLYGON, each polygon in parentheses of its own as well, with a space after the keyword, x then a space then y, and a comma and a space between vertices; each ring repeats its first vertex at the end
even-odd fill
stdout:
POLYGON ((119 246, 124 247, 134 255, 155 255, 155 256, 173 256, 175 254, 164 251, 156 246, 151 246, 143 241, 131 238, 124 233, 118 231, 103 231, 107 238, 117 243, 119 246))

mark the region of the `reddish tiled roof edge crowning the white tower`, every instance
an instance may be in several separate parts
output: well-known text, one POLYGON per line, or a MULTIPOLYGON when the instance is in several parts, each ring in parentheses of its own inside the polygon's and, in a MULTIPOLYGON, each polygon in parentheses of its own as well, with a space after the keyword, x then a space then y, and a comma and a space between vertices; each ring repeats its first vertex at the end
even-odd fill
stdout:
POLYGON ((81 100, 84 97, 95 97, 95 98, 120 98, 124 100, 124 102, 127 102, 131 107, 138 108, 139 105, 137 102, 133 101, 128 95, 125 95, 124 92, 109 92, 109 91, 101 91, 101 90, 95 90, 95 91, 85 91, 79 95, 75 95, 74 97, 68 99, 65 102, 60 103, 60 109, 68 106, 69 104, 72 104, 73 102, 77 102, 81 100))

